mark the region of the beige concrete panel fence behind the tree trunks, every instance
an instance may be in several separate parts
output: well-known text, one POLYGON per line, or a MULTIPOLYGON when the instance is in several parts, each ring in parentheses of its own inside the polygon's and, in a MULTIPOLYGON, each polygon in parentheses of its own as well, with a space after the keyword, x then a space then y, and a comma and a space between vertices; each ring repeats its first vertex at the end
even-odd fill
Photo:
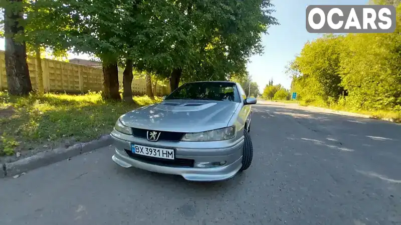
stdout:
MULTIPOLYGON (((0 90, 7 89, 5 52, 0 50, 0 90)), ((28 56, 29 74, 31 77, 32 87, 38 88, 38 77, 36 71, 35 57, 28 56)), ((103 71, 101 68, 57 61, 42 58, 43 86, 45 91, 66 91, 66 92, 87 92, 103 90, 103 71)), ((120 89, 122 85, 122 70, 118 72, 118 81, 120 89)), ((170 93, 168 83, 160 83, 154 85, 153 93, 155 95, 166 95, 170 93)), ((146 79, 134 78, 132 80, 132 93, 136 95, 146 93, 146 79)))

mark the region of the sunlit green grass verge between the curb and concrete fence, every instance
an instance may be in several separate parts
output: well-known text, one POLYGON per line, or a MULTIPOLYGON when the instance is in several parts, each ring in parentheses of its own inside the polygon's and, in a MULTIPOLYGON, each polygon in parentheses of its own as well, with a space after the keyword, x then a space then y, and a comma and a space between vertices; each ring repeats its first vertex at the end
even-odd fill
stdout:
POLYGON ((135 103, 105 101, 95 92, 16 97, 0 91, 0 155, 12 155, 16 150, 29 150, 63 139, 94 139, 110 132, 121 114, 161 100, 147 96, 133 98, 135 103))

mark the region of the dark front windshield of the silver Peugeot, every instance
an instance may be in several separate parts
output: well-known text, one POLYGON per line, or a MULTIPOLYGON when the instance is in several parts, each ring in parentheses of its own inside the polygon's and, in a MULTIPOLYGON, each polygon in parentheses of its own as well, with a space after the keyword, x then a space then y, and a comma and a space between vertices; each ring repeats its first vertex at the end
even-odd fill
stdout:
POLYGON ((165 99, 200 99, 240 102, 236 84, 229 82, 185 83, 170 93, 165 99))

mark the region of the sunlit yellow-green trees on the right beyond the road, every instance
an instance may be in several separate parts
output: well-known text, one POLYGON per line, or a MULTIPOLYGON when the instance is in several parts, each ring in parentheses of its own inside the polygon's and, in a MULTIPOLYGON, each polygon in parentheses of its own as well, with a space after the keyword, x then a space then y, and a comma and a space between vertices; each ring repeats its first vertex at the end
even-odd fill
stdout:
POLYGON ((287 70, 292 90, 308 102, 401 110, 400 13, 398 3, 393 33, 328 35, 306 43, 287 70))

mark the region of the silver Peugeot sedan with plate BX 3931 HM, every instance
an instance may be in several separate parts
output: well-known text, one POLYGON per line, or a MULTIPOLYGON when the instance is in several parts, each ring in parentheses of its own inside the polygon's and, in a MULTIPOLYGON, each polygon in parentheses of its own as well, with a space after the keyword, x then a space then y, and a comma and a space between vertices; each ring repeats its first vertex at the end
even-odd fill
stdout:
POLYGON ((187 180, 229 179, 251 165, 248 132, 255 103, 236 82, 185 83, 160 103, 118 118, 111 132, 112 159, 187 180))

